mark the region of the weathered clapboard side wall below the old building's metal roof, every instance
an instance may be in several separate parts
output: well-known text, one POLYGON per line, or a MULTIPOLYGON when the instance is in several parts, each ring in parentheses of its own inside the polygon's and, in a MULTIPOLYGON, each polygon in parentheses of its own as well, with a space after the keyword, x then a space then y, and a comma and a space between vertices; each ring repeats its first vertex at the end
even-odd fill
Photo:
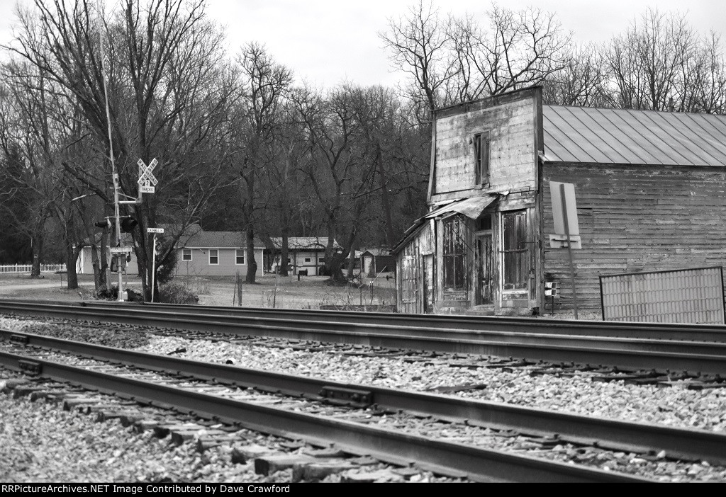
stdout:
POLYGON ((600 308, 598 275, 726 264, 724 169, 544 164, 544 280, 560 283, 563 307, 571 307, 570 272, 567 250, 550 248, 550 180, 575 185, 582 249, 573 254, 583 308, 600 308))

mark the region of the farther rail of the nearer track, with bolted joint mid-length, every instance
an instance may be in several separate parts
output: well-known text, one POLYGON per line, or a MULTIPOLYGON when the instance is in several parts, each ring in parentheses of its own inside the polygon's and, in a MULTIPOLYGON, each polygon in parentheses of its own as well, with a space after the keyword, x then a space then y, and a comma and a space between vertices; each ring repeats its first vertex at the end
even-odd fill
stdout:
POLYGON ((382 409, 403 410, 452 422, 483 425, 497 430, 515 430, 526 435, 551 437, 557 434, 563 443, 592 444, 619 451, 666 451, 674 459, 707 460, 726 464, 726 435, 706 430, 674 428, 652 423, 632 423, 578 414, 550 412, 543 409, 513 406, 497 402, 475 401, 455 396, 417 393, 371 385, 340 383, 314 377, 285 375, 259 369, 247 369, 192 361, 178 357, 129 351, 122 348, 68 341, 33 333, 0 330, 0 339, 25 343, 27 346, 69 351, 94 359, 129 364, 171 374, 188 375, 230 385, 244 385, 258 390, 305 396, 324 400, 326 388, 370 393, 369 403, 382 409))

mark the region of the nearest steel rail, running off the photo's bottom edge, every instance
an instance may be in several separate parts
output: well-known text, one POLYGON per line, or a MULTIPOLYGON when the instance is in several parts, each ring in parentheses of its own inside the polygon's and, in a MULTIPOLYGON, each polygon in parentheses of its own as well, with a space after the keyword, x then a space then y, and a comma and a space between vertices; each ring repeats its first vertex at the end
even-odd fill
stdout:
POLYGON ((285 438, 299 438, 317 446, 334 443, 341 451, 369 454, 381 461, 407 466, 417 464, 443 475, 496 482, 652 482, 640 477, 606 472, 574 464, 563 464, 531 456, 486 450, 461 443, 444 442, 420 435, 362 425, 341 419, 275 409, 249 402, 234 401, 204 393, 155 383, 116 377, 81 367, 0 352, 0 364, 23 371, 21 362, 33 362, 39 376, 83 388, 113 393, 142 404, 172 406, 198 417, 216 419, 249 430, 285 438))

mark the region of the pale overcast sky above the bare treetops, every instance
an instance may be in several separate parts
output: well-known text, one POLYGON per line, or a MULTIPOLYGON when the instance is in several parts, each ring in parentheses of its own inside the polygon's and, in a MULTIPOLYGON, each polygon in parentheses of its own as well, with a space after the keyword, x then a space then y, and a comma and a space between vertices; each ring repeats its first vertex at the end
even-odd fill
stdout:
MULTIPOLYGON (((114 0, 108 0, 113 4, 114 0)), ((0 42, 12 39, 15 0, 0 0, 0 42)), ((20 0, 32 4, 33 0, 20 0)), ((227 27, 229 49, 248 41, 265 43, 278 62, 298 78, 319 86, 341 80, 364 85, 391 85, 400 75, 391 72, 378 32, 389 18, 408 12, 414 1, 402 0, 208 0, 208 14, 227 27)), ((555 12, 576 41, 606 41, 620 33, 646 8, 687 12, 690 25, 701 32, 716 30, 726 42, 724 0, 507 0, 502 7, 528 5, 555 12)), ((435 1, 442 14, 483 17, 487 0, 435 1)))

